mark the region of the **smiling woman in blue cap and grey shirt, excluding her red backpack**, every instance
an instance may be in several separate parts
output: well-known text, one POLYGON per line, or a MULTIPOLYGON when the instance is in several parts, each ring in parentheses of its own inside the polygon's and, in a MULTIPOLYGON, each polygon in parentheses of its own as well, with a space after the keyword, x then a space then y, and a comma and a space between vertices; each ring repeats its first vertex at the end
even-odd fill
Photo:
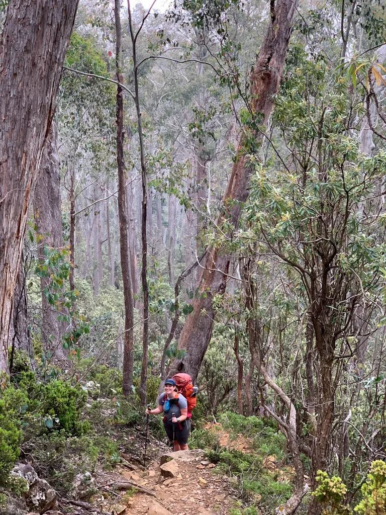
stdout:
POLYGON ((165 393, 161 393, 158 398, 158 407, 146 410, 150 415, 164 414, 164 427, 169 440, 173 442, 173 451, 188 450, 187 408, 188 403, 182 393, 178 392, 176 381, 167 379, 165 393))

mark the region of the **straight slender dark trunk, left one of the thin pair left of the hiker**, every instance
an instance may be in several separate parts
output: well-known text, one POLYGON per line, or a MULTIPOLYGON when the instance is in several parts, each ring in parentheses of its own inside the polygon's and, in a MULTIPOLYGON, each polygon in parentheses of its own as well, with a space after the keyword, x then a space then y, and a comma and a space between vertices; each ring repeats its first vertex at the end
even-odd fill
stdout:
MULTIPOLYGON (((122 84, 121 73, 121 49, 122 29, 120 25, 120 2, 115 0, 115 65, 117 81, 122 84)), ((124 285, 125 298, 125 337, 124 337, 124 366, 123 366, 123 393, 124 396, 132 394, 133 384, 133 296, 131 291, 129 248, 128 248, 128 219, 126 205, 126 179, 124 161, 124 101, 122 88, 117 86, 117 164, 118 164, 118 213, 119 213, 119 241, 120 261, 122 268, 122 282, 124 285)))

